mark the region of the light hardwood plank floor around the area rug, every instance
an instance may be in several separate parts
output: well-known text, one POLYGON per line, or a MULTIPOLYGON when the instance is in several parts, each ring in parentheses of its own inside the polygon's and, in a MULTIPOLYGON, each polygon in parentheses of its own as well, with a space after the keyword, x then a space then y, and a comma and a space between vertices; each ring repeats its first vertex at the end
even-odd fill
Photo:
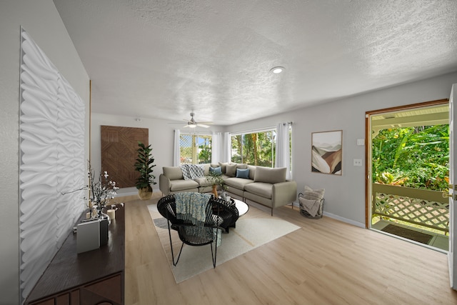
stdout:
POLYGON ((176 284, 151 201, 136 198, 123 199, 127 305, 457 304, 446 254, 326 216, 306 219, 290 206, 274 215, 301 229, 176 284))

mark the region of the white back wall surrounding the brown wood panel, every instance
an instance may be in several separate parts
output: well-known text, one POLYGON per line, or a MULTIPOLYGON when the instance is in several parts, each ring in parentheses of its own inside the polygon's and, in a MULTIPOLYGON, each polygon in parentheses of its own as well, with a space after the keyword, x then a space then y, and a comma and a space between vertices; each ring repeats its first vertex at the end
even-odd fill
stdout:
MULTIPOLYGON (((92 101, 94 102, 94 101, 92 101)), ((180 129, 181 133, 189 129, 182 129, 183 124, 169 124, 170 121, 157 119, 141 119, 136 121, 136 118, 131 116, 114 116, 110 114, 91 114, 91 165, 99 171, 101 167, 101 135, 100 126, 124 126, 149 129, 149 144, 152 148, 152 156, 154 156, 154 176, 156 176, 157 184, 153 187, 154 191, 159 191, 159 175, 162 174, 163 166, 173 165, 173 147, 174 147, 174 130, 180 129)), ((200 128, 199 131, 208 132, 221 131, 219 126, 211 126, 209 129, 200 128)), ((132 164, 133 166, 133 164, 132 164)), ((109 173, 108 173, 109 174, 109 173)), ((116 181, 115 177, 112 177, 116 181)), ((136 194, 138 191, 135 187, 120 189, 119 195, 136 194)))

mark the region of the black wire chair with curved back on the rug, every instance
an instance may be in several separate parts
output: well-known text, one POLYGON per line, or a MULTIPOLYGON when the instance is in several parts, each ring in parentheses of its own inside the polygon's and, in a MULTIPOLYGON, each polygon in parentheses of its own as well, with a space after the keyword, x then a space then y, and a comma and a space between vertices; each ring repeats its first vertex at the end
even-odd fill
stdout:
POLYGON ((176 264, 178 264, 184 244, 189 246, 205 246, 209 244, 211 246, 213 267, 216 268, 217 246, 219 241, 219 234, 217 234, 217 231, 225 231, 221 226, 224 223, 224 219, 219 216, 220 211, 224 209, 223 203, 214 199, 209 200, 206 209, 206 220, 201 226, 176 217, 176 201, 174 194, 159 199, 157 209, 162 216, 168 219, 171 259, 173 260, 173 265, 176 266, 176 264), (173 241, 171 240, 171 230, 177 231, 179 239, 182 241, 181 249, 179 250, 176 261, 174 257, 173 241))

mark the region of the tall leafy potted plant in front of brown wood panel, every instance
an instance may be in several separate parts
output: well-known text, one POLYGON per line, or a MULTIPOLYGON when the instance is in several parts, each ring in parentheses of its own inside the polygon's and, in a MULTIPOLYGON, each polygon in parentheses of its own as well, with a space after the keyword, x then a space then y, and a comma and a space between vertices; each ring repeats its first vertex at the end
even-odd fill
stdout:
POLYGON ((138 141, 139 149, 138 159, 136 159, 135 170, 139 171, 140 176, 136 179, 136 189, 138 189, 138 195, 140 199, 147 200, 151 199, 152 196, 152 186, 156 184, 154 179, 156 176, 152 174, 154 164, 154 157, 151 156, 151 145, 145 146, 141 141, 138 141))

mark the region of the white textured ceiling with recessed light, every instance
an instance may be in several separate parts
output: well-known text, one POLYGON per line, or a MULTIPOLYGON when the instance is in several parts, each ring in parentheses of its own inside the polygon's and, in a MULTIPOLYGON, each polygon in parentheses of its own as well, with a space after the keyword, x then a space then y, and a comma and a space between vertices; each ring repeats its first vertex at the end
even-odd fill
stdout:
POLYGON ((457 71, 456 0, 54 3, 99 113, 228 125, 457 71))

